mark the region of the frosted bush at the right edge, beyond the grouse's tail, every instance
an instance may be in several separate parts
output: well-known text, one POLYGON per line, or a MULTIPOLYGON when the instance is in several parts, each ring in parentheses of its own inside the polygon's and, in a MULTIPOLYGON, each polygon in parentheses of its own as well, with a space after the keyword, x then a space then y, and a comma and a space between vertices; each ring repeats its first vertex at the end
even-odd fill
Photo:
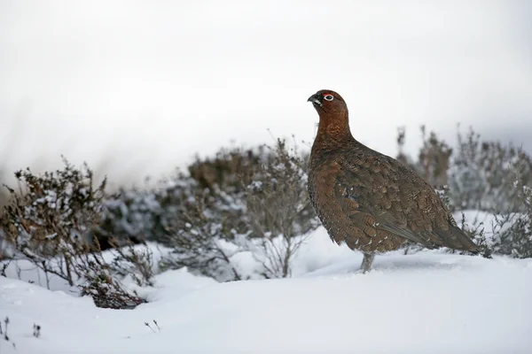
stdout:
POLYGON ((457 210, 494 214, 489 242, 485 230, 476 227, 481 248, 514 258, 532 257, 532 159, 511 144, 481 142, 473 130, 465 138, 458 134, 456 151, 449 171, 451 204, 457 210))

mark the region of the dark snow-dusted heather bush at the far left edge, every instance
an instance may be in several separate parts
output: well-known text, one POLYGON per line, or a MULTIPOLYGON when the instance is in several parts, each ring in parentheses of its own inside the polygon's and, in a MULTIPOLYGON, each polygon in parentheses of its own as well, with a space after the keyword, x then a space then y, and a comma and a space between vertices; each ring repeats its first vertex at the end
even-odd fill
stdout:
MULTIPOLYGON (((106 181, 95 187, 87 165, 76 168, 66 160, 64 163, 65 167, 56 172, 36 175, 27 169, 15 173, 20 191, 8 189, 11 200, 0 221, 11 258, 33 263, 45 274, 48 286, 51 275, 59 276, 78 287, 82 295, 92 296, 98 306, 129 308, 141 303, 142 299, 121 287, 94 237, 106 181)), ((146 257, 127 250, 117 253, 117 264, 144 269, 146 257)))

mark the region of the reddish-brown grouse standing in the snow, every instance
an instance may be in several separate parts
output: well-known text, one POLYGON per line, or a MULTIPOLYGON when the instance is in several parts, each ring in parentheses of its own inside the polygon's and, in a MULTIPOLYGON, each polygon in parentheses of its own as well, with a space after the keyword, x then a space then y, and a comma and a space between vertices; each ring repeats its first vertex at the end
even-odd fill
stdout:
POLYGON ((359 271, 370 272, 375 254, 407 241, 479 252, 423 178, 355 139, 338 93, 319 90, 308 102, 319 116, 309 157, 310 204, 333 242, 363 252, 359 271))

